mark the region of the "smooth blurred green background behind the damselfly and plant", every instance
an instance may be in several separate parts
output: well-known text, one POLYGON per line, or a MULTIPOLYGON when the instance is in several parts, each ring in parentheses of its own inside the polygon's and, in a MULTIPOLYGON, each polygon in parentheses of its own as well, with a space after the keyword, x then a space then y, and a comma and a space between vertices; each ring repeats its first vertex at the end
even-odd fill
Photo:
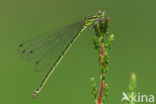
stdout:
POLYGON ((34 72, 34 64, 22 61, 17 47, 98 10, 106 11, 109 33, 115 34, 105 104, 121 103, 131 72, 137 75, 138 92, 155 95, 155 5, 155 0, 0 0, 0 104, 94 104, 90 77, 100 83, 94 31, 80 35, 36 99, 31 94, 48 69, 34 72))

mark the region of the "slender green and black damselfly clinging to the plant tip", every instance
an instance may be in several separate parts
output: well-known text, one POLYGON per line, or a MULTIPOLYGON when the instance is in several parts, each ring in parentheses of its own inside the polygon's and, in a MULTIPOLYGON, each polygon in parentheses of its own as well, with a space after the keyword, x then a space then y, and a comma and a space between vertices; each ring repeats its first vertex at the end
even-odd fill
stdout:
POLYGON ((48 32, 27 40, 19 45, 19 54, 22 59, 33 61, 35 63, 35 71, 40 71, 51 65, 51 69, 40 86, 33 92, 33 97, 39 94, 56 65, 80 33, 104 19, 104 12, 98 11, 95 15, 86 17, 55 32, 48 32))

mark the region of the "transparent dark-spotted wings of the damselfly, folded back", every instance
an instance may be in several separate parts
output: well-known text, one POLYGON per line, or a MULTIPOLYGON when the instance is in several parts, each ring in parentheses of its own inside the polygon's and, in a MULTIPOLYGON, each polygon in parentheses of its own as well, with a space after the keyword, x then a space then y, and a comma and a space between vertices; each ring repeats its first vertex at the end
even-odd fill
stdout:
POLYGON ((40 71, 55 64, 82 28, 83 21, 80 21, 27 40, 19 45, 19 54, 22 59, 34 62, 35 71, 40 71))

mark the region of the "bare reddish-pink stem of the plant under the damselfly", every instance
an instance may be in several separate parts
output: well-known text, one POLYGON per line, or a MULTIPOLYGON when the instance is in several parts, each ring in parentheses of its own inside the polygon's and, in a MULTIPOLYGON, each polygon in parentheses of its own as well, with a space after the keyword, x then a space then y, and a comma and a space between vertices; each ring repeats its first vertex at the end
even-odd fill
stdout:
MULTIPOLYGON (((104 46, 102 42, 100 42, 100 44, 101 44, 101 68, 103 68, 104 46)), ((103 87, 104 87, 104 80, 103 80, 103 72, 101 71, 101 88, 100 88, 99 99, 98 99, 97 104, 101 104, 103 87)))

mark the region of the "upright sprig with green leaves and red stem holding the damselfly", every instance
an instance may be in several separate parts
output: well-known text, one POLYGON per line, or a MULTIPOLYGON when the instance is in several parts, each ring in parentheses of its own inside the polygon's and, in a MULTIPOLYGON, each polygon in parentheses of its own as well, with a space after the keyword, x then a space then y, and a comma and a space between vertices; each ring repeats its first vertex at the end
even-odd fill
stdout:
MULTIPOLYGON (((95 30, 95 36, 93 37, 93 44, 95 49, 98 52, 98 63, 99 63, 99 72, 100 72, 100 79, 102 81, 101 84, 103 84, 102 89, 102 102, 107 98, 108 96, 108 84, 105 82, 106 79, 106 72, 108 71, 108 63, 109 63, 109 54, 108 51, 112 47, 112 43, 114 40, 114 35, 108 35, 108 23, 109 23, 109 17, 105 15, 103 12, 104 19, 101 18, 99 22, 93 26, 95 30)), ((91 88, 92 88, 92 94, 94 96, 94 99, 96 101, 96 104, 102 104, 101 101, 98 100, 97 97, 97 87, 96 82, 94 78, 91 78, 91 88), (99 101, 99 102, 98 102, 99 101)), ((101 94, 99 92, 99 94, 101 94)), ((99 97, 101 97, 99 95, 99 97)))

